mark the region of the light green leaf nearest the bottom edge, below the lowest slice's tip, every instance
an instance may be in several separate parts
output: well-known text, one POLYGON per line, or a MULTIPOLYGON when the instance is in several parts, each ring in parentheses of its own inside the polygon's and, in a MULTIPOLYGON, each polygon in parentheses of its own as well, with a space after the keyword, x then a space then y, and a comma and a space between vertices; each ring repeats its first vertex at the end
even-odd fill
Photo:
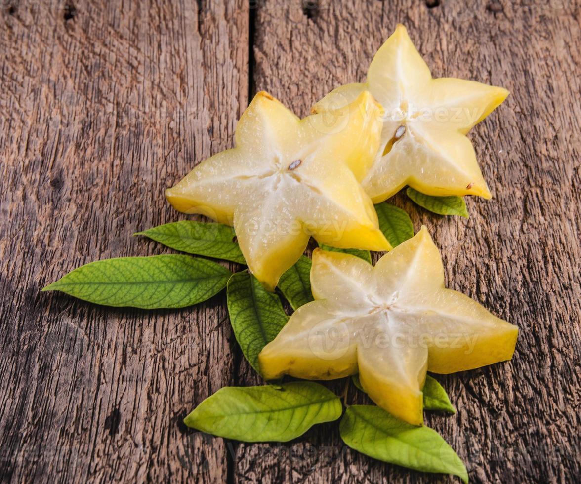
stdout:
POLYGON ((382 408, 348 407, 339 432, 349 447, 366 456, 417 471, 457 475, 468 482, 466 467, 439 433, 408 424, 382 408))

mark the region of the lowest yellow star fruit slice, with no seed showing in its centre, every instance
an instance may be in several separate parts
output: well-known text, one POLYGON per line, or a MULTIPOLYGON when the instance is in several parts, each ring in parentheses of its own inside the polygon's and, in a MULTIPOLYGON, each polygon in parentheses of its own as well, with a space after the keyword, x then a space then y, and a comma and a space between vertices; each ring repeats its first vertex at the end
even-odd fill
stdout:
POLYGON ((423 420, 426 371, 510 360, 517 343, 516 326, 444 288, 442 260, 425 227, 375 267, 315 249, 311 287, 315 300, 293 313, 259 354, 264 378, 358 372, 371 399, 410 424, 423 420))

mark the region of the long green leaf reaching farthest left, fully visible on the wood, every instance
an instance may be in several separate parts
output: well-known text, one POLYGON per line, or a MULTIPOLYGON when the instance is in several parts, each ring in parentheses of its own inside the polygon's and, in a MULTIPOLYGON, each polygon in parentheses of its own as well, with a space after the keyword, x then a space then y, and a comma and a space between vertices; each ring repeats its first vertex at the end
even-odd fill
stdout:
POLYGON ((216 262, 181 255, 98 260, 42 291, 62 291, 105 306, 143 309, 192 306, 225 288, 231 272, 216 262))

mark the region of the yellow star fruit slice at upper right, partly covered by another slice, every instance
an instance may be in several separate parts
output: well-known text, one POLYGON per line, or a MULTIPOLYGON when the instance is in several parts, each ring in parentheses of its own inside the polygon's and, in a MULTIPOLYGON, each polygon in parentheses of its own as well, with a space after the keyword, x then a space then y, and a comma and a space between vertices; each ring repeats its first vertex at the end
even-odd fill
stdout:
POLYGON ((363 180, 374 203, 404 185, 427 195, 490 198, 466 134, 504 101, 506 89, 451 77, 433 79, 401 24, 375 54, 367 83, 331 91, 313 112, 343 106, 366 89, 385 109, 377 158, 363 180))

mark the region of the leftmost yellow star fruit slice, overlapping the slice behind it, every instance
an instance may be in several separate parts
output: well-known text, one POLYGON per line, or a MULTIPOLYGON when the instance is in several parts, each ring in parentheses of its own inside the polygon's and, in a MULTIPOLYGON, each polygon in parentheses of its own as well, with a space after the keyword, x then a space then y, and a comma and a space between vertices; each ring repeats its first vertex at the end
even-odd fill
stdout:
POLYGON ((338 248, 390 250, 359 181, 381 137, 367 91, 300 120, 259 92, 236 127, 235 148, 198 164, 166 191, 175 209, 233 225, 250 271, 270 291, 312 235, 338 248))

